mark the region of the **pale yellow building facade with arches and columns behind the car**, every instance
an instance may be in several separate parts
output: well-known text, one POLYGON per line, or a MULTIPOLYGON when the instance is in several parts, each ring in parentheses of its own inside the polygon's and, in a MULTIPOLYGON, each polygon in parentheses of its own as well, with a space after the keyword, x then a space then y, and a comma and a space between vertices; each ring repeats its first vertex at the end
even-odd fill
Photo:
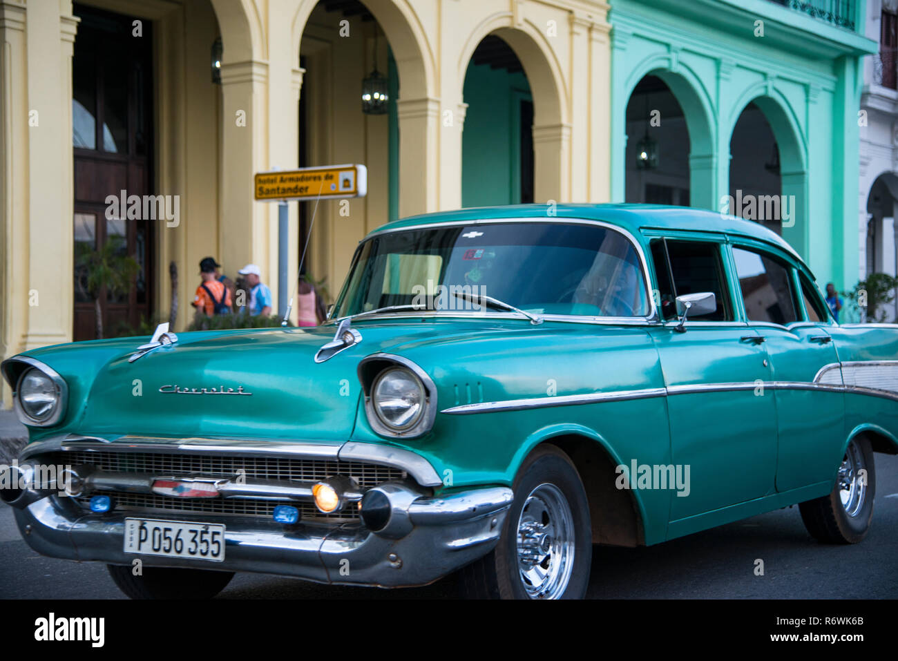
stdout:
MULTIPOLYGON (((509 73, 526 88, 514 98, 532 104, 507 125, 523 126, 511 137, 524 163, 512 189, 537 202, 608 201, 608 10, 586 0, 0 0, 0 359, 88 337, 95 310, 110 334, 137 317, 165 321, 173 296, 183 331, 207 255, 232 278, 258 264, 277 301, 277 205, 253 199, 255 172, 365 164, 364 198, 322 200, 317 213, 313 202, 289 205, 289 272, 308 236, 307 272, 335 294, 374 227, 462 207, 472 63, 523 71, 525 84, 509 73), (373 69, 398 91, 388 115, 361 110, 373 69), (174 200, 177 217, 110 214, 106 198, 122 190, 174 200), (75 273, 77 244, 114 236, 141 270, 129 292, 94 307, 75 273)), ((504 103, 479 117, 504 115, 504 103)))

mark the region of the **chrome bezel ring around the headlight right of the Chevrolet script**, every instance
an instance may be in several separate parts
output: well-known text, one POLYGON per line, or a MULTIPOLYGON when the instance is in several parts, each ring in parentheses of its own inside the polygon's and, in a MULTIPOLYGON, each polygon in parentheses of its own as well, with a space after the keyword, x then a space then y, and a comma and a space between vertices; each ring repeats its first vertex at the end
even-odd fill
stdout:
POLYGON ((368 424, 380 436, 389 438, 417 438, 434 426, 436 419, 436 385, 420 366, 408 358, 378 353, 365 357, 358 364, 358 378, 365 395, 365 415, 368 424), (375 388, 383 377, 396 370, 408 375, 420 388, 421 411, 408 425, 396 427, 385 419, 374 401, 375 388))

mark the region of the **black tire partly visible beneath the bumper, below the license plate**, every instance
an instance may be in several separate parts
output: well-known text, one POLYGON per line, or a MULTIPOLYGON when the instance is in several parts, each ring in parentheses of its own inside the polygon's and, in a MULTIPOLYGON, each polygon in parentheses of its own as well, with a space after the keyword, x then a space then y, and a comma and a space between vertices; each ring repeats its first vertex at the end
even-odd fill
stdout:
POLYGON ((106 567, 119 590, 131 599, 211 599, 233 578, 233 571, 145 567, 142 576, 135 576, 130 565, 106 567))

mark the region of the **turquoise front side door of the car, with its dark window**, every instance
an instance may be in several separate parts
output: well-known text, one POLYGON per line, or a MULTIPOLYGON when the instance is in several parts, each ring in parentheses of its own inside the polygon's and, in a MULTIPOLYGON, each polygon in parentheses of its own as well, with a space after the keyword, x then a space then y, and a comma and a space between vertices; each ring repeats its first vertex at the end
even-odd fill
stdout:
POLYGON ((667 388, 674 464, 689 466, 688 496, 671 498, 674 522, 774 491, 776 405, 758 392, 770 377, 757 333, 737 318, 722 235, 667 235, 650 242, 664 324, 651 329, 667 388), (677 295, 712 292, 714 313, 679 331, 677 295))

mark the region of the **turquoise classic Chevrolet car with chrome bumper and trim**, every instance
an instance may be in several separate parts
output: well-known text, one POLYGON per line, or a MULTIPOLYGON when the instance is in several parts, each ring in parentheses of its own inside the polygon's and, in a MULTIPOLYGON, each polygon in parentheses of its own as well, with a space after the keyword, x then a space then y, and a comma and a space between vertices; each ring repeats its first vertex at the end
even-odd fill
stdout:
MULTIPOLYGON (((3 373, 4 501, 132 597, 236 571, 582 597, 594 545, 799 504, 859 542, 898 452, 898 326, 833 321, 760 225, 681 207, 465 209, 359 244, 318 328, 103 339, 3 373)), ((600 552, 600 551, 596 551, 600 552)))

